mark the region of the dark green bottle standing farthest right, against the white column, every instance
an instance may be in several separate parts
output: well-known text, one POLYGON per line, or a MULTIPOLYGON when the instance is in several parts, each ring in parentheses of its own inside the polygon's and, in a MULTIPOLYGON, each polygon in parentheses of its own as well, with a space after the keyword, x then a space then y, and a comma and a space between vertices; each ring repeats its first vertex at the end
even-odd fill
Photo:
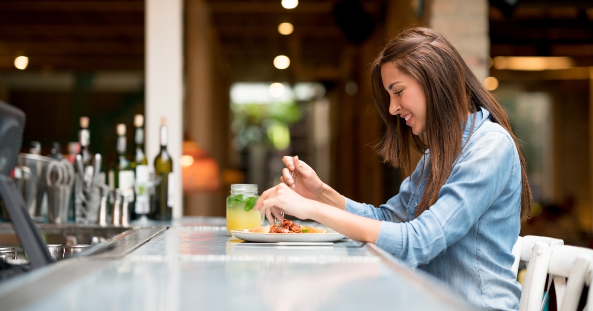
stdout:
POLYGON ((173 161, 167 153, 167 119, 161 120, 161 152, 154 159, 155 177, 160 179, 155 187, 153 204, 149 217, 158 220, 170 220, 173 209, 173 161))

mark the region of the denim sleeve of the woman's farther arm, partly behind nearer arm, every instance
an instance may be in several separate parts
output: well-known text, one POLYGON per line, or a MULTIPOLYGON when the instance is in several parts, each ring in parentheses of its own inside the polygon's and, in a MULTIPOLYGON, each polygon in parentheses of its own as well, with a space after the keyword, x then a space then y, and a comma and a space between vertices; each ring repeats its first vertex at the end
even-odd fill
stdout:
POLYGON ((407 203, 410 200, 415 188, 415 182, 412 182, 412 180, 419 180, 423 171, 424 158, 425 157, 422 157, 422 159, 420 159, 412 176, 404 179, 404 181, 401 182, 400 193, 390 198, 387 203, 381 204, 377 209, 371 204, 358 203, 345 197, 346 211, 371 219, 384 220, 386 222, 406 222, 407 203))

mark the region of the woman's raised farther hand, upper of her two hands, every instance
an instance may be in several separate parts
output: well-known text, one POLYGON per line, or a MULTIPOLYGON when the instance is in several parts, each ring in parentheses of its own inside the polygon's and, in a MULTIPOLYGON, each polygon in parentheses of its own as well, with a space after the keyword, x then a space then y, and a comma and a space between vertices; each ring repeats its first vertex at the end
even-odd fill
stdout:
POLYGON ((325 184, 319 179, 313 168, 307 163, 299 161, 298 156, 285 156, 282 158, 282 162, 286 168, 282 169, 280 182, 287 184, 305 198, 317 200, 325 190, 325 184), (291 171, 294 172, 292 177, 291 171))

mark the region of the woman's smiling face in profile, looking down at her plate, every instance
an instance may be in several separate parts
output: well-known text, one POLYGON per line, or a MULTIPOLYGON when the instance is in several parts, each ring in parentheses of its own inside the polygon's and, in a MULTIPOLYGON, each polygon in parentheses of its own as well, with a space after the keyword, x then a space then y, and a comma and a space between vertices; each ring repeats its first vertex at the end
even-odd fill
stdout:
POLYGON ((390 97, 389 113, 404 118, 415 135, 425 133, 426 95, 418 82, 391 62, 381 66, 381 80, 390 97))

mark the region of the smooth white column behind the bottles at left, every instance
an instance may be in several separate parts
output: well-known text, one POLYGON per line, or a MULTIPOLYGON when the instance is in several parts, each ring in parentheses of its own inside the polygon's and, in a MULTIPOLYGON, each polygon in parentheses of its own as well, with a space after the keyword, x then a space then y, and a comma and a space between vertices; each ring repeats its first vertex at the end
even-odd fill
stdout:
POLYGON ((173 217, 183 214, 181 144, 183 142, 183 1, 146 0, 145 114, 146 155, 154 163, 161 117, 167 118, 167 150, 173 158, 175 203, 173 217))

